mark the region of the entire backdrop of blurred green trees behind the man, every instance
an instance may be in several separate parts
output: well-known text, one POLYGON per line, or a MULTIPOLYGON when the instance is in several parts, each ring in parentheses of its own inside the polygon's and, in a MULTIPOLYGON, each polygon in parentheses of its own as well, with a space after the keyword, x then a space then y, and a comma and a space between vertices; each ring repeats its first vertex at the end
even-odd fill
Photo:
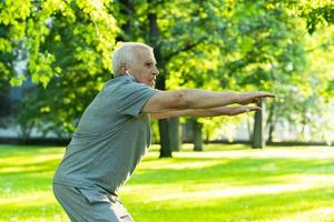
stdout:
MULTIPOLYGON (((19 125, 23 139, 32 129, 68 138, 112 77, 117 42, 141 41, 155 48, 158 89, 271 91, 277 99, 266 104, 264 139, 277 140, 288 125, 298 140, 333 140, 330 0, 10 0, 0 1, 0 115, 2 125, 19 125), (10 85, 21 85, 19 101, 8 102, 10 85)), ((180 120, 198 151, 202 139, 233 140, 237 125, 248 125, 252 139, 258 121, 180 120)), ((178 149, 178 123, 154 123, 161 157, 178 149)))

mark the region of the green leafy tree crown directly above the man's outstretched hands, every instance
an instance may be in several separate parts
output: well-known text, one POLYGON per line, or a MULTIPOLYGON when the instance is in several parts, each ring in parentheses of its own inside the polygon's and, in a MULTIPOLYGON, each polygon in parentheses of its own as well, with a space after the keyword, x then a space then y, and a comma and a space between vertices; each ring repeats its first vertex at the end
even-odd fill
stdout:
POLYGON ((296 21, 282 4, 239 1, 219 9, 208 16, 210 38, 191 50, 190 59, 185 54, 173 60, 169 85, 272 91, 277 81, 303 72, 305 53, 296 21))

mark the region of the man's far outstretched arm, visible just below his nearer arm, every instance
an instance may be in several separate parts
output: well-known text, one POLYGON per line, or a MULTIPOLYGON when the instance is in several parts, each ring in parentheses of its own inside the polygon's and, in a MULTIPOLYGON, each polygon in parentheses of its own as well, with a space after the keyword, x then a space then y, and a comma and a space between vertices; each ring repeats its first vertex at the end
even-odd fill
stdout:
POLYGON ((166 112, 151 113, 153 119, 166 119, 175 117, 218 117, 218 115, 237 115, 245 112, 258 111, 259 107, 219 107, 219 108, 209 108, 209 109, 188 109, 188 110, 171 110, 166 112))

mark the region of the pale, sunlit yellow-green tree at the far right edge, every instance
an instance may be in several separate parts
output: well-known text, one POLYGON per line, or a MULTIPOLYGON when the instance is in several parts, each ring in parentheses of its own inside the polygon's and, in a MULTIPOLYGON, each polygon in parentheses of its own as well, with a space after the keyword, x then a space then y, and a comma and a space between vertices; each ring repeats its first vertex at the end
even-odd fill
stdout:
POLYGON ((299 75, 294 75, 286 82, 275 85, 281 98, 269 104, 269 118, 267 120, 269 137, 273 140, 275 125, 289 122, 292 125, 302 125, 299 132, 302 140, 305 138, 305 129, 311 127, 313 139, 328 141, 331 119, 324 121, 330 111, 328 103, 333 98, 333 9, 331 1, 314 1, 295 4, 285 2, 285 7, 293 14, 298 14, 299 39, 305 53, 305 68, 299 75), (307 32, 310 34, 307 34, 307 32), (303 38, 302 38, 303 37, 303 38), (286 101, 289 101, 288 103, 286 101), (326 104, 327 103, 327 104, 326 104))

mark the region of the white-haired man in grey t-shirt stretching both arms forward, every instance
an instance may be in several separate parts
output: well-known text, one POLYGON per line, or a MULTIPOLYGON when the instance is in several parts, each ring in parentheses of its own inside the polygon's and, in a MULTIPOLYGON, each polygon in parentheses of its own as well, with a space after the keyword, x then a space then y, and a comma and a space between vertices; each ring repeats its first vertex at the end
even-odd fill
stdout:
POLYGON ((53 192, 71 221, 134 221, 116 192, 150 144, 150 118, 235 115, 267 92, 153 89, 159 71, 153 49, 126 42, 114 52, 115 78, 85 110, 53 178, 53 192), (238 107, 227 107, 237 103, 238 107))

